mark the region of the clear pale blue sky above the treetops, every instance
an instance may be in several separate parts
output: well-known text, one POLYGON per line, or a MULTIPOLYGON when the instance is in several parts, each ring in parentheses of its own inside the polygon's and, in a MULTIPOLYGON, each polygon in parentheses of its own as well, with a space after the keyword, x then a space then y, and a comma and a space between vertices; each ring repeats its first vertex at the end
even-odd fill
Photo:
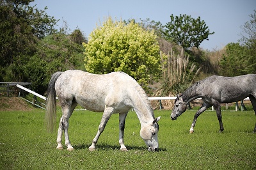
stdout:
POLYGON ((163 25, 170 22, 170 15, 186 14, 193 18, 205 20, 214 35, 209 41, 204 40, 203 49, 221 49, 227 43, 237 42, 241 38, 241 26, 250 20, 249 15, 256 10, 255 0, 129 0, 129 1, 86 1, 86 0, 35 0, 31 6, 43 10, 55 19, 60 19, 58 26, 63 26, 63 20, 68 28, 74 31, 76 27, 83 31, 86 37, 108 16, 113 19, 150 19, 160 21, 163 25))

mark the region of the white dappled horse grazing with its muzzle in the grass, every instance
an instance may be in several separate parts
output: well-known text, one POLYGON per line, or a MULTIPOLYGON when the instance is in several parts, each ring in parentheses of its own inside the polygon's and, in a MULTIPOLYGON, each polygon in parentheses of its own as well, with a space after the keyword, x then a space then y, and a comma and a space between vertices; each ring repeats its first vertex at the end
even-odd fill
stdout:
POLYGON ((120 150, 126 151, 124 145, 125 118, 133 108, 140 123, 140 136, 149 147, 149 151, 158 150, 157 133, 160 117, 154 118, 154 112, 145 91, 132 77, 124 72, 112 72, 103 75, 80 70, 67 70, 52 75, 47 90, 45 120, 47 128, 53 130, 56 123, 56 95, 62 109, 58 128, 57 149, 63 149, 61 136, 64 131, 67 150, 74 150, 68 138, 68 119, 77 104, 94 112, 103 112, 99 130, 95 135, 90 151, 95 150, 100 134, 113 113, 119 113, 120 150))

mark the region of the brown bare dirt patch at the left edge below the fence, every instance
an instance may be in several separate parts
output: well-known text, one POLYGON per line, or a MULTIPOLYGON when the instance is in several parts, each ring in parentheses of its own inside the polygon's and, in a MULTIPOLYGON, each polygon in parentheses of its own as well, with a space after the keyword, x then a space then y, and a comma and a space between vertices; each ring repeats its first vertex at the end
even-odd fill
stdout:
POLYGON ((0 111, 28 111, 33 107, 19 97, 0 97, 0 111))

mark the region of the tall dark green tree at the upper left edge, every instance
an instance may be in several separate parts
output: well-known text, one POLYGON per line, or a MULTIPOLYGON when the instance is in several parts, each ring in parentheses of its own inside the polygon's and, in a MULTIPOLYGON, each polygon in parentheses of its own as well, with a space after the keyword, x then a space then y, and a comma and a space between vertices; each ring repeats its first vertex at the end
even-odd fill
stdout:
POLYGON ((54 33, 57 20, 29 6, 33 0, 0 1, 0 80, 26 81, 26 64, 38 38, 54 33))

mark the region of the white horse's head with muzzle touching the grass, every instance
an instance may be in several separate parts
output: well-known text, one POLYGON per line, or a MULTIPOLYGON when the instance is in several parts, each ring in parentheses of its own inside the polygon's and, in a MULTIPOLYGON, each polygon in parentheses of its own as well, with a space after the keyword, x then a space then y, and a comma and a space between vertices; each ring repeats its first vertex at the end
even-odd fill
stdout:
POLYGON ((158 151, 157 134, 159 130, 159 125, 157 121, 159 121, 160 118, 161 117, 159 116, 154 119, 154 121, 141 126, 140 136, 147 144, 148 151, 158 151))

